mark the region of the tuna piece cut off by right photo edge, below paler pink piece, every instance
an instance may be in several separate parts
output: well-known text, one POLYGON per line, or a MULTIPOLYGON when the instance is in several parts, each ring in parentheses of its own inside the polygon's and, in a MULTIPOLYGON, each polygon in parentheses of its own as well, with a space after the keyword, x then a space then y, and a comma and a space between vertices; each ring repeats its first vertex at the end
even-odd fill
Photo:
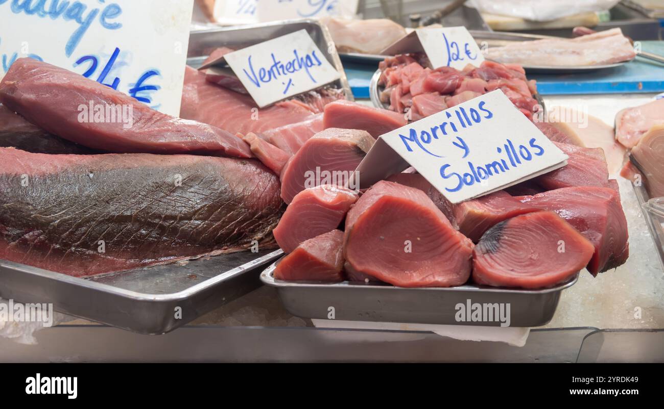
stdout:
POLYGON ((664 125, 655 125, 631 150, 645 176, 645 187, 651 198, 664 196, 664 125))

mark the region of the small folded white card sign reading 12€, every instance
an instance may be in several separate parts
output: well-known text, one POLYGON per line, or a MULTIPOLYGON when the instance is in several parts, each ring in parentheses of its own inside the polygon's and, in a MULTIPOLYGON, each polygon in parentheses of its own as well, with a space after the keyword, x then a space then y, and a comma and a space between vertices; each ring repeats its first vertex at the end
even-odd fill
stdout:
POLYGON ((380 54, 426 52, 432 68, 452 67, 462 70, 467 64, 479 67, 484 56, 477 42, 465 27, 417 29, 410 32, 380 54))

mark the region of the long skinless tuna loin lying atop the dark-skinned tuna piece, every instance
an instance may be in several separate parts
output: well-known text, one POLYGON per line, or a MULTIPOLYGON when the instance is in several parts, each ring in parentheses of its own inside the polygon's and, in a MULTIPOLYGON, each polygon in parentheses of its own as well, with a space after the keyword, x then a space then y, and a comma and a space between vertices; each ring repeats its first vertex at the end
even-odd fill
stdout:
POLYGON ((222 129, 160 113, 120 91, 33 58, 12 64, 0 82, 0 101, 49 133, 88 148, 251 157, 246 143, 222 129))

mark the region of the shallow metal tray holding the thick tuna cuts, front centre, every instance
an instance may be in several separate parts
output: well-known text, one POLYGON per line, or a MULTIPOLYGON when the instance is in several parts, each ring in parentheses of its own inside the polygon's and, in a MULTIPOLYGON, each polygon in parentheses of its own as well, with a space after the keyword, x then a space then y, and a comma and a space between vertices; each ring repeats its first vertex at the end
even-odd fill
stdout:
POLYGON ((516 290, 468 284, 452 288, 400 288, 388 284, 339 282, 290 282, 272 275, 276 262, 260 274, 262 282, 277 288, 288 312, 303 318, 327 320, 329 308, 335 320, 429 323, 441 325, 492 325, 499 322, 456 321, 456 305, 472 303, 509 303, 510 326, 537 327, 553 318, 560 292, 569 282, 544 290, 516 290))

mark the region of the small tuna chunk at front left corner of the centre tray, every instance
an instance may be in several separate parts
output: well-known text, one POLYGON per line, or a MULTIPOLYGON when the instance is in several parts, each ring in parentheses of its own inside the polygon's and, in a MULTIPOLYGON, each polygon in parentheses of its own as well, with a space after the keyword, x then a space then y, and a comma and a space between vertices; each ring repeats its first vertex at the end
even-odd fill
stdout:
POLYGON ((343 281, 343 231, 305 241, 279 261, 273 274, 277 280, 343 281))

